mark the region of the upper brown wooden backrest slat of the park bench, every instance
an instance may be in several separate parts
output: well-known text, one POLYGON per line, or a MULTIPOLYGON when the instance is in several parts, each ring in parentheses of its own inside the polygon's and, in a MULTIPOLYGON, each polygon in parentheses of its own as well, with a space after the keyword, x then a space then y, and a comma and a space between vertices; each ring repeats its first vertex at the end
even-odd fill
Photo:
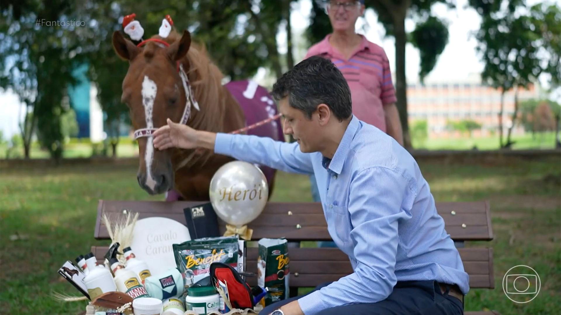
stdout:
MULTIPOLYGON (((139 219, 163 216, 186 224, 183 209, 201 203, 100 200, 94 237, 109 238, 107 228, 101 220, 103 213, 111 218, 122 215, 123 210, 126 209, 139 212, 139 219)), ((436 209, 443 217, 446 231, 452 239, 490 240, 493 238, 488 202, 443 202, 436 203, 436 209), (454 215, 452 211, 455 211, 454 215), (466 227, 464 228, 462 224, 466 227)), ((225 224, 220 221, 219 226, 220 233, 224 233, 225 224)), ((331 240, 320 203, 268 202, 263 213, 249 226, 254 230, 254 239, 284 237, 291 241, 331 240), (292 215, 288 215, 288 211, 291 211, 292 215), (301 226, 300 229, 296 228, 297 224, 301 226)))

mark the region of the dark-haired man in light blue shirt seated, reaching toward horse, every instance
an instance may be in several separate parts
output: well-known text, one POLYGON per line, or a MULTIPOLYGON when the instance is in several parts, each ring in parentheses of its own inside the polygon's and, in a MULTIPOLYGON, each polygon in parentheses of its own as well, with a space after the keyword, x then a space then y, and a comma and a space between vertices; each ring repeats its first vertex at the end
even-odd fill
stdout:
POLYGON ((261 314, 462 314, 468 275, 429 184, 392 137, 359 121, 342 73, 328 59, 298 63, 273 86, 294 143, 196 131, 173 123, 154 146, 192 149, 315 174, 329 234, 353 274, 261 314))

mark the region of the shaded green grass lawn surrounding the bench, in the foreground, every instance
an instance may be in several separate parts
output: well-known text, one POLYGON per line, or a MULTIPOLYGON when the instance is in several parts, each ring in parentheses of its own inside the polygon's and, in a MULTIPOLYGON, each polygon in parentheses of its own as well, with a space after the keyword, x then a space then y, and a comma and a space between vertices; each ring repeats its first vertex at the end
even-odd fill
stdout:
MULTIPOLYGON (((495 289, 473 289, 466 310, 502 314, 561 313, 561 160, 486 159, 479 164, 421 163, 437 201, 490 200, 495 289), (515 265, 534 267, 540 294, 515 304, 502 290, 515 265), (555 301, 558 302, 555 302, 555 301)), ((280 173, 273 201, 310 201, 307 177, 280 173)), ((136 183, 136 166, 61 166, 0 170, 0 310, 6 314, 76 314, 85 302, 61 304, 50 294, 77 291, 57 274, 87 253, 99 199, 162 200, 136 183), (19 239, 11 240, 18 235, 19 239)), ((470 243, 468 246, 488 245, 470 243)))

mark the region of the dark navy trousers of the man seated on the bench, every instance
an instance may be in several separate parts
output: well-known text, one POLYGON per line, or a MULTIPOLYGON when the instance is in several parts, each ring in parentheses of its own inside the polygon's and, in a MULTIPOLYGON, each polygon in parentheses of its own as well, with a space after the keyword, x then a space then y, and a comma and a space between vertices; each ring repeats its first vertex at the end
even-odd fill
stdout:
MULTIPOLYGON (((329 285, 319 285, 316 290, 329 285)), ((269 305, 259 312, 268 315, 282 305, 301 297, 289 298, 269 305)), ((443 294, 436 281, 398 281, 389 297, 378 303, 348 304, 326 309, 321 315, 456 315, 463 314, 463 304, 457 298, 443 294)))

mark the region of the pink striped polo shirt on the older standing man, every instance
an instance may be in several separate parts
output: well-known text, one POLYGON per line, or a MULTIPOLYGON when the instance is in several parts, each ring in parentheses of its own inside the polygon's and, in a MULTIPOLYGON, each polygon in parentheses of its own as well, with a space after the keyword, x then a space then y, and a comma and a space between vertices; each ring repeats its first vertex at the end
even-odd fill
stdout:
POLYGON ((385 132, 384 105, 396 103, 396 91, 384 49, 361 35, 361 44, 346 60, 329 44, 329 36, 308 49, 304 59, 313 55, 331 59, 351 89, 352 113, 385 132))

